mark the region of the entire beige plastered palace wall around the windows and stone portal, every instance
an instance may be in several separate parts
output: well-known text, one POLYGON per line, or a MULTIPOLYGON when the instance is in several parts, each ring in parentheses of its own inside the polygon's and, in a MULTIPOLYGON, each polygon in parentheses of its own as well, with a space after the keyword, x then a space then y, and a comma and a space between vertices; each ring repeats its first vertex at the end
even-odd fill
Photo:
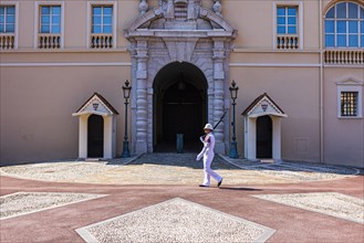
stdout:
MULTIPOLYGON (((64 49, 35 50, 35 2, 19 1, 19 49, 3 51, 0 60, 1 162, 76 158, 79 119, 71 114, 93 92, 102 94, 121 113, 116 120, 116 150, 117 155, 121 154, 124 136, 122 85, 132 73, 132 60, 126 51, 129 43, 124 30, 138 17, 139 1, 111 2, 117 2, 116 49, 86 49, 87 1, 65 1, 64 49)), ((272 0, 221 1, 223 17, 238 31, 227 82, 236 80, 239 85, 239 154, 243 155, 245 146, 240 114, 257 96, 267 92, 288 115, 288 118, 282 118, 283 159, 320 161, 322 157, 327 163, 364 167, 363 118, 337 118, 335 84, 347 76, 363 82, 364 68, 323 68, 321 131, 321 1, 297 2, 303 6, 304 47, 300 51, 277 51, 273 46, 272 0), (320 155, 321 134, 323 155, 320 155)), ((322 1, 322 10, 331 2, 322 1)), ((158 1, 149 0, 148 3, 150 8, 157 7, 158 1)), ((202 4, 211 9, 212 1, 204 0, 202 4)))

